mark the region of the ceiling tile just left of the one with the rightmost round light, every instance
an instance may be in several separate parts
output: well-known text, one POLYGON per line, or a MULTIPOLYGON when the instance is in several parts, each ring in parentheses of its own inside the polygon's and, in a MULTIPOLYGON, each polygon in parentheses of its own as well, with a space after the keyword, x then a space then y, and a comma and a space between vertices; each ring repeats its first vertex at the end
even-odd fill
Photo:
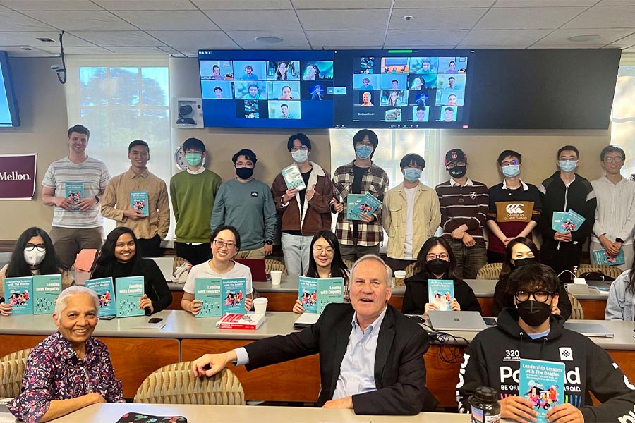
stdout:
POLYGON ((472 30, 461 41, 459 48, 525 49, 549 32, 550 30, 472 30))

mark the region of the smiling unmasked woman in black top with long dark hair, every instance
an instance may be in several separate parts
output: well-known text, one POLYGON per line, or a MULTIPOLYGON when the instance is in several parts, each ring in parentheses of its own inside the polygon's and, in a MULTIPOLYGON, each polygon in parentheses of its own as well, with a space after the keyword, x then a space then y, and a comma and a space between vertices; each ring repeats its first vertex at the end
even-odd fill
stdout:
POLYGON ((172 293, 157 263, 137 254, 138 248, 137 237, 131 229, 114 228, 104 241, 91 278, 112 278, 116 286, 116 278, 143 276, 145 294, 139 299, 139 308, 145 309, 145 314, 160 312, 172 302, 172 293))

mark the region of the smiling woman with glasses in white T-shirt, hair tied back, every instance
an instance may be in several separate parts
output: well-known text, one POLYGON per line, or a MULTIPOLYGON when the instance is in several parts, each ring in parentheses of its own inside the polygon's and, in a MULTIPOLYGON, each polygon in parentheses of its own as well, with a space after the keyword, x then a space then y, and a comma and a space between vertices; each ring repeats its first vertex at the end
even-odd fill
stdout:
POLYGON ((241 250, 241 235, 234 226, 219 226, 212 232, 212 259, 194 266, 185 286, 181 307, 186 312, 196 315, 202 309, 201 300, 194 297, 194 286, 197 278, 245 278, 246 293, 245 311, 251 309, 253 302, 253 288, 251 285, 251 269, 244 264, 234 262, 233 258, 241 250))

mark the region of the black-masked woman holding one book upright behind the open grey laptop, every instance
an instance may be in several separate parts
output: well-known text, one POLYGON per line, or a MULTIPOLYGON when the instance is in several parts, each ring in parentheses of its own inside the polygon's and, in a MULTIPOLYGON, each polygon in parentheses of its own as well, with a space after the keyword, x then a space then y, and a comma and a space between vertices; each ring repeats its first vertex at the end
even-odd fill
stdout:
POLYGON ((451 279, 454 281, 454 298, 450 301, 452 310, 480 313, 480 303, 474 291, 463 279, 454 275, 454 269, 456 259, 447 241, 441 237, 428 238, 417 255, 415 274, 404 281, 406 293, 401 312, 427 315, 428 310, 437 309, 428 298, 428 279, 451 279))

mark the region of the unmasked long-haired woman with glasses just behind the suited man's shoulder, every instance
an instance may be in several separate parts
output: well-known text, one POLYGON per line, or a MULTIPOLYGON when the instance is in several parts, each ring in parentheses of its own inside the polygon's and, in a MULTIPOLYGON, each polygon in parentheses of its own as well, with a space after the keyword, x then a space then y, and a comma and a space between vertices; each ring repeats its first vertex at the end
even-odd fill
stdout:
MULTIPOLYGON (((339 243, 331 231, 320 231, 311 240, 311 255, 306 275, 309 278, 343 278, 344 302, 349 298, 349 268, 339 254, 339 243)), ((296 299, 294 313, 303 313, 304 307, 300 299, 296 299)))

